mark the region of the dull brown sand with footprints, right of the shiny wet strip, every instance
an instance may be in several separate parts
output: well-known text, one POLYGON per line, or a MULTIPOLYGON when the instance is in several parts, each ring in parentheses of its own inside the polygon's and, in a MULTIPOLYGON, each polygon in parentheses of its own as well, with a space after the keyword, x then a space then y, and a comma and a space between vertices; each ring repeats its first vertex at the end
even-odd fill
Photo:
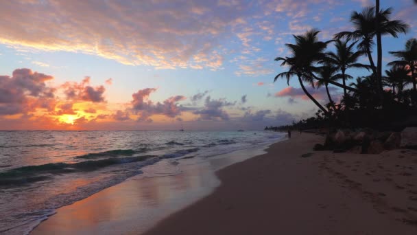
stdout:
POLYGON ((417 234, 417 153, 313 152, 303 133, 217 172, 221 186, 145 234, 417 234))

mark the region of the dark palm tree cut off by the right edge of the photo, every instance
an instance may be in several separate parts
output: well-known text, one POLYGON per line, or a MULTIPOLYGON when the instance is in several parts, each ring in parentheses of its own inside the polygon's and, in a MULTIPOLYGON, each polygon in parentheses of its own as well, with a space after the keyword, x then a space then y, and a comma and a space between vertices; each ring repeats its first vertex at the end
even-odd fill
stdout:
POLYGON ((411 80, 413 83, 413 89, 414 92, 416 92, 417 39, 409 39, 407 43, 405 43, 405 50, 398 52, 390 52, 390 54, 394 55, 396 58, 399 58, 400 60, 392 61, 388 63, 388 65, 394 65, 396 67, 409 67, 409 71, 411 73, 411 80))

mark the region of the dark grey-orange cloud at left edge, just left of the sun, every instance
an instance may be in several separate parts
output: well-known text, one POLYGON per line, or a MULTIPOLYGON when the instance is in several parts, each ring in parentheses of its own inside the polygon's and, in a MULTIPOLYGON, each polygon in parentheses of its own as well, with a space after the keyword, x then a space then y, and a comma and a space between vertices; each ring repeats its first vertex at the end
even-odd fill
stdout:
POLYGON ((0 76, 0 115, 53 110, 56 89, 45 84, 52 79, 31 69, 15 69, 11 77, 0 76))

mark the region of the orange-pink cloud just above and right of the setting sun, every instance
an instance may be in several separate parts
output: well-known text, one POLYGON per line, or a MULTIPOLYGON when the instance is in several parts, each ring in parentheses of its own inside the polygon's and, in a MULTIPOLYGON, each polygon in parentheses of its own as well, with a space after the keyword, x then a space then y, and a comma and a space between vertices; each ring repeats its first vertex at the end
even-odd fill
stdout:
POLYGON ((83 100, 91 102, 105 102, 104 86, 92 87, 90 85, 90 77, 84 78, 82 82, 65 82, 62 85, 64 93, 70 100, 83 100))

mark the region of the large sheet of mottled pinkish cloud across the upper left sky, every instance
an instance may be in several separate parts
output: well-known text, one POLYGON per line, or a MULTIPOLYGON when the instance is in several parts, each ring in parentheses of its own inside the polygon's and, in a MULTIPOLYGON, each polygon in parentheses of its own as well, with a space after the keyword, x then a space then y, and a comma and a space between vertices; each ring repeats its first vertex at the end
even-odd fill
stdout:
POLYGON ((242 17, 250 15, 251 5, 182 0, 8 1, 0 8, 8 19, 0 23, 0 43, 82 52, 158 69, 219 69, 220 41, 229 36, 230 27, 245 22, 242 17))

